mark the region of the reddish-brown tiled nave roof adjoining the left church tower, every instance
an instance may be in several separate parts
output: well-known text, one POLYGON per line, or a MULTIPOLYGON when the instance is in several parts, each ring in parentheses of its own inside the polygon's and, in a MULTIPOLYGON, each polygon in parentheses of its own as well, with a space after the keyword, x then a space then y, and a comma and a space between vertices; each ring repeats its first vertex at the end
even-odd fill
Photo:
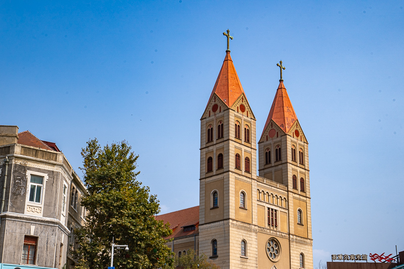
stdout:
POLYGON ((198 224, 199 224, 199 205, 174 211, 167 214, 162 214, 156 216, 157 220, 163 220, 164 223, 170 224, 170 229, 173 230, 173 234, 166 237, 165 239, 178 238, 187 235, 198 234, 198 224), (192 231, 184 232, 185 226, 195 225, 196 229, 192 231))

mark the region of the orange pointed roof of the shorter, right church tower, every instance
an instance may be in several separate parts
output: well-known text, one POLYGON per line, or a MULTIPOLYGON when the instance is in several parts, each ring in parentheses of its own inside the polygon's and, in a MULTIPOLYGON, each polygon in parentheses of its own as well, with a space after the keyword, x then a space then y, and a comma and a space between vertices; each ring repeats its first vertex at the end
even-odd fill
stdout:
POLYGON ((275 98, 264 126, 264 131, 271 120, 274 120, 285 133, 289 131, 292 124, 297 120, 296 113, 294 113, 292 103, 290 102, 282 81, 279 83, 278 89, 276 90, 275 98))

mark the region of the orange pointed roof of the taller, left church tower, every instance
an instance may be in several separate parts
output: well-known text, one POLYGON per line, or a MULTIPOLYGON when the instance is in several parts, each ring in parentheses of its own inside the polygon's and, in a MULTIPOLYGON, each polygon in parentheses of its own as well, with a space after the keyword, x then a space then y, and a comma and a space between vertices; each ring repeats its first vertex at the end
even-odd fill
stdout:
POLYGON ((237 100, 241 93, 244 92, 229 51, 226 51, 222 69, 219 72, 219 76, 209 99, 212 98, 215 92, 229 107, 237 100))

